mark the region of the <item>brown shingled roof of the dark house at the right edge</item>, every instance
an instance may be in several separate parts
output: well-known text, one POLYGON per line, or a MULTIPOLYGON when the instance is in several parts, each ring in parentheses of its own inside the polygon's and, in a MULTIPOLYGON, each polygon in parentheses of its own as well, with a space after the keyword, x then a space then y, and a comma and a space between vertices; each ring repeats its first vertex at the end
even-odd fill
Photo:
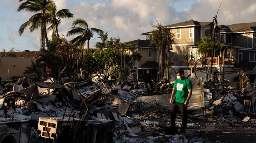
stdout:
POLYGON ((238 24, 231 24, 231 25, 220 25, 223 28, 221 30, 221 33, 243 33, 243 32, 252 32, 253 29, 251 27, 254 27, 256 25, 256 22, 250 22, 250 23, 238 23, 238 24))

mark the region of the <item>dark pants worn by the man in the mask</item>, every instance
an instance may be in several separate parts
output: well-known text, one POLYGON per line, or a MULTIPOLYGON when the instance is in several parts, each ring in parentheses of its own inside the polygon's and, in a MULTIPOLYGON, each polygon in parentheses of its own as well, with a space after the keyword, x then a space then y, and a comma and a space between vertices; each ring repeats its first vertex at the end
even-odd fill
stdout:
POLYGON ((182 124, 184 127, 187 126, 188 118, 187 118, 187 107, 184 103, 179 103, 177 101, 174 101, 173 107, 171 109, 171 124, 172 126, 175 126, 175 120, 176 120, 176 114, 178 113, 179 109, 182 116, 182 124))

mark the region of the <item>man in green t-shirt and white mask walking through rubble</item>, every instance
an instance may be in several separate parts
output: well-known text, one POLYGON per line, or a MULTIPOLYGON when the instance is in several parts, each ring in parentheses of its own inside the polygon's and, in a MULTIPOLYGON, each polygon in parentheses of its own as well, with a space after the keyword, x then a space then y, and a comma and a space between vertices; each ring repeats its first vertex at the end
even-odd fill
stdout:
POLYGON ((175 119, 176 114, 178 113, 179 109, 182 115, 182 124, 180 133, 186 133, 186 126, 187 126, 187 107, 189 103, 189 99, 192 94, 192 82, 188 78, 185 77, 184 71, 179 69, 177 72, 177 79, 175 80, 172 95, 170 98, 170 103, 173 104, 171 109, 171 121, 170 126, 173 130, 177 130, 175 128, 175 119), (176 93, 175 99, 173 99, 176 93))

